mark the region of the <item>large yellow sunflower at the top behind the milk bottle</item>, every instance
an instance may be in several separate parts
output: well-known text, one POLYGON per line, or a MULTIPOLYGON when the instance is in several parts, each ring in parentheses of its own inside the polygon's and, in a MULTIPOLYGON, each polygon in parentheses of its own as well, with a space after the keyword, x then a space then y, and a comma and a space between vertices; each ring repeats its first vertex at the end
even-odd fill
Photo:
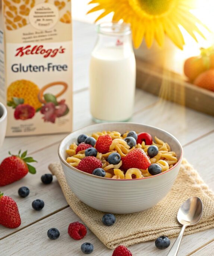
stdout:
POLYGON ((153 40, 163 46, 166 34, 177 47, 183 49, 185 43, 180 27, 195 41, 195 33, 204 37, 196 25, 203 24, 190 12, 195 7, 195 0, 92 0, 89 4, 97 6, 88 13, 103 10, 96 21, 113 12, 112 21, 122 19, 130 23, 135 48, 140 46, 143 37, 148 48, 153 40))

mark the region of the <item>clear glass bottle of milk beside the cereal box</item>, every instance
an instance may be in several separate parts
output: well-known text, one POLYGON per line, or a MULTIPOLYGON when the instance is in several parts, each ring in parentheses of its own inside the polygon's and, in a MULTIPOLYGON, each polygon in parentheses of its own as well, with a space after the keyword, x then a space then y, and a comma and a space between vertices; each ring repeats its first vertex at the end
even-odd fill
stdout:
POLYGON ((90 110, 93 120, 128 121, 133 113, 136 82, 131 30, 116 22, 97 26, 90 62, 90 110))

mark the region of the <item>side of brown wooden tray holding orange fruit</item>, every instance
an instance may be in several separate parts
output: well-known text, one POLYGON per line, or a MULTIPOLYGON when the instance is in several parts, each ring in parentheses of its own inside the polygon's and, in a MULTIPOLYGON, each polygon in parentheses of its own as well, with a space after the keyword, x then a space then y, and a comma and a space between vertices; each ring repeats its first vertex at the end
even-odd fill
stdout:
POLYGON ((190 84, 172 71, 155 67, 140 59, 136 62, 137 87, 168 101, 214 116, 214 92, 190 84))

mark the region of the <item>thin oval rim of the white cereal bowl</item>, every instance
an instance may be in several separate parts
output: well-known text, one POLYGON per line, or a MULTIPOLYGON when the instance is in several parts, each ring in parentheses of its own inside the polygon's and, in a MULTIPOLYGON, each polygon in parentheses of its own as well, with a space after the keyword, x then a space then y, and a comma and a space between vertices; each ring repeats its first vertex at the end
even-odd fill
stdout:
MULTIPOLYGON (((102 124, 109 124, 109 123, 102 123, 102 124)), ((114 123, 111 123, 111 124, 112 124, 112 125, 114 125, 114 124, 121 124, 121 122, 114 122, 114 123)), ((126 124, 126 123, 125 123, 125 124, 126 124)), ((111 181, 139 181, 139 180, 144 180, 144 179, 151 179, 151 178, 153 178, 153 177, 157 177, 157 176, 160 176, 160 175, 164 175, 164 173, 167 173, 167 172, 172 171, 175 167, 177 167, 177 166, 180 164, 180 162, 182 161, 182 158, 183 158, 183 147, 182 147, 182 145, 180 144, 180 142, 178 141, 178 139, 177 139, 175 136, 173 136, 171 133, 169 133, 169 132, 167 132, 167 131, 165 131, 165 130, 163 130, 163 129, 161 129, 161 128, 155 127, 155 126, 151 126, 151 125, 147 125, 147 124, 140 124, 140 123, 133 123, 133 122, 128 122, 128 124, 137 124, 137 125, 148 126, 148 127, 151 127, 151 128, 155 128, 155 129, 161 130, 162 132, 167 133, 168 135, 170 135, 170 136, 177 142, 177 144, 178 144, 178 145, 180 146, 180 148, 181 148, 181 155, 180 155, 180 158, 179 158, 179 160, 177 161, 177 163, 176 163, 172 168, 168 169, 168 170, 165 171, 165 172, 161 172, 161 173, 156 174, 156 175, 153 175, 153 176, 148 176, 148 177, 143 177, 143 178, 138 178, 138 179, 112 179, 112 178, 105 178, 105 177, 96 176, 96 175, 93 175, 93 174, 90 174, 90 173, 87 173, 87 172, 83 172, 83 171, 81 171, 81 170, 78 170, 77 168, 75 168, 75 167, 71 166, 70 164, 68 164, 68 163, 66 162, 66 160, 62 157, 62 154, 61 154, 61 152, 60 152, 60 149, 61 149, 61 147, 62 147, 62 143, 63 143, 63 141, 65 141, 72 133, 78 132, 79 130, 82 130, 82 129, 87 128, 87 127, 94 126, 94 125, 96 125, 96 124, 91 124, 91 125, 89 125, 89 126, 84 126, 84 127, 80 128, 80 129, 74 130, 73 132, 69 133, 69 135, 67 135, 65 138, 62 139, 62 141, 60 142, 59 147, 58 147, 58 155, 59 155, 60 161, 61 161, 63 164, 65 164, 67 167, 69 167, 69 169, 71 169, 72 171, 75 171, 75 172, 78 172, 78 173, 82 173, 82 174, 84 174, 84 175, 88 175, 88 176, 91 176, 91 177, 93 177, 93 178, 102 179, 102 180, 111 180, 111 181)))

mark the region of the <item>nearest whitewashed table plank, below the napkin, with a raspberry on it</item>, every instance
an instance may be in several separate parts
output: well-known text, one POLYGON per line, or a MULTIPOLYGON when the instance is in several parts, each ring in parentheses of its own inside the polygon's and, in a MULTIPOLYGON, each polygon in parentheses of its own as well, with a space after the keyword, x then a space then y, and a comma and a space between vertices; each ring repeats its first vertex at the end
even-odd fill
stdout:
MULTIPOLYGON (((75 241, 68 235, 68 225, 71 222, 81 220, 68 207, 46 219, 41 220, 7 238, 0 241, 1 252, 4 256, 18 255, 35 255, 46 256, 47 252, 50 255, 71 255, 82 256, 80 250, 82 243, 90 242, 94 245, 93 255, 111 256, 112 250, 106 248, 90 230, 87 230, 87 235, 82 240, 75 241), (51 241, 47 237, 49 228, 58 228, 61 235, 58 240, 51 241), (15 244, 14 244, 15 241, 15 244), (36 242, 35 242, 36 241, 36 242)), ((183 237, 178 256, 184 256, 196 250, 205 243, 205 237, 214 237, 214 229, 199 232, 193 235, 183 237), (199 239, 200 238, 200 239, 199 239), (197 241, 195 243, 194 241, 197 241)), ((171 239, 171 245, 175 238, 171 239)), ((171 247, 171 246, 170 246, 171 247)), ((156 249, 154 241, 135 244, 129 249, 133 256, 164 256, 170 250, 170 247, 165 250, 156 249)), ((206 255, 206 254, 205 254, 206 255)))

